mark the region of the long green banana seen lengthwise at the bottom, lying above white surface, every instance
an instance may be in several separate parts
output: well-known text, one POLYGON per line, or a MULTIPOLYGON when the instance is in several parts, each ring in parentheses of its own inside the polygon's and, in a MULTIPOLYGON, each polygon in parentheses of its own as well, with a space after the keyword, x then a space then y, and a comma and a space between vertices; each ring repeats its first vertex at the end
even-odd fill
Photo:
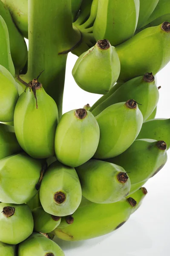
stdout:
POLYGON ((78 241, 103 236, 121 227, 130 217, 136 201, 122 199, 113 204, 95 204, 83 198, 73 214, 74 222, 52 233, 66 241, 78 241))

